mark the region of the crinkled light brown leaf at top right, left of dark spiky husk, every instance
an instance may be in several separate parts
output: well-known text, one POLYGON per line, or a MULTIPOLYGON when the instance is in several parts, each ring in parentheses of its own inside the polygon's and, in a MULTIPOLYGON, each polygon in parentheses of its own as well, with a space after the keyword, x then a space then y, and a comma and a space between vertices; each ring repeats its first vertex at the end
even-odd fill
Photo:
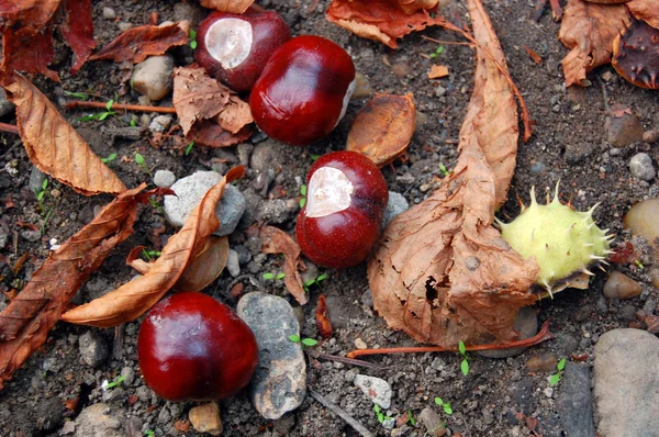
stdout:
POLYGON ((558 34, 571 49, 562 59, 566 85, 583 86, 589 71, 610 63, 613 41, 628 25, 629 15, 624 4, 570 0, 558 34))

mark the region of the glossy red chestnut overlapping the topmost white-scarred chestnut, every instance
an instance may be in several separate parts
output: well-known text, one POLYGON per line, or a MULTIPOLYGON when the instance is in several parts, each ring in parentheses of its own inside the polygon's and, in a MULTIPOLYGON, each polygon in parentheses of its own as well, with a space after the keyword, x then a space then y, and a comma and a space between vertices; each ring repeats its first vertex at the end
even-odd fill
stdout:
POLYGON ((355 65, 343 48, 321 36, 297 36, 266 64, 249 108, 268 136, 304 146, 336 127, 354 90, 355 65))

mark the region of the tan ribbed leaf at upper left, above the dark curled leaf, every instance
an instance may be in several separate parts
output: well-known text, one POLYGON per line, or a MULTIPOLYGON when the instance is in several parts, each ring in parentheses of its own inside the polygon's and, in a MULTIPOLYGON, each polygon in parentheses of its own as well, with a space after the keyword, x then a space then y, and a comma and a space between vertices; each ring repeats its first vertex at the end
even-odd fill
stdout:
POLYGON ((5 89, 16 105, 16 121, 27 156, 40 170, 86 195, 126 190, 34 85, 14 75, 14 82, 5 89))

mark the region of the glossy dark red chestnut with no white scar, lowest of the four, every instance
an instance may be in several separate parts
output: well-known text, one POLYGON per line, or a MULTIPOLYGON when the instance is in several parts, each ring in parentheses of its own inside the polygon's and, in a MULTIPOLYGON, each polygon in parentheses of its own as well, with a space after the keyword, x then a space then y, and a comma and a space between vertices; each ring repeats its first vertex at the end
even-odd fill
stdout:
POLYGON ((137 338, 146 384, 168 401, 220 400, 249 383, 258 363, 249 326, 198 292, 174 294, 146 315, 137 338))

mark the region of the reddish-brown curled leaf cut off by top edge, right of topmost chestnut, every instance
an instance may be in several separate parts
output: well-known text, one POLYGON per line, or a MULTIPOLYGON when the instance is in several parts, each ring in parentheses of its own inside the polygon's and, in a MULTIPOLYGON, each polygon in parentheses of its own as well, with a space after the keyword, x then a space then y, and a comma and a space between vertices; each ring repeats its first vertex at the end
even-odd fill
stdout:
POLYGON ((333 0, 325 16, 358 36, 380 41, 391 48, 398 48, 396 38, 443 21, 432 18, 425 9, 407 14, 401 8, 409 2, 400 3, 394 0, 333 0))

